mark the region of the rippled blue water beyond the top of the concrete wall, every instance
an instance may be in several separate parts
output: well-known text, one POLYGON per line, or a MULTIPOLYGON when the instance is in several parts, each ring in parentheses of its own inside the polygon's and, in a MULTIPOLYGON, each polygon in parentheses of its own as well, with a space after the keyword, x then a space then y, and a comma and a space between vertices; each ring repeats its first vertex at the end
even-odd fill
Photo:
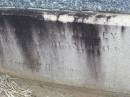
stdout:
POLYGON ((0 0, 0 7, 130 13, 130 0, 0 0))

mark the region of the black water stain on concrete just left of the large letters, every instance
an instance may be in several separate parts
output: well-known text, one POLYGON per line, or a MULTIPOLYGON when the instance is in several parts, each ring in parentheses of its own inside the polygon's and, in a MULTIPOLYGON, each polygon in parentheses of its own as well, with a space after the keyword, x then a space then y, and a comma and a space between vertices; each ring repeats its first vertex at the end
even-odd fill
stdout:
POLYGON ((91 76, 98 80, 101 73, 101 40, 98 25, 73 23, 73 39, 77 46, 85 46, 91 76))

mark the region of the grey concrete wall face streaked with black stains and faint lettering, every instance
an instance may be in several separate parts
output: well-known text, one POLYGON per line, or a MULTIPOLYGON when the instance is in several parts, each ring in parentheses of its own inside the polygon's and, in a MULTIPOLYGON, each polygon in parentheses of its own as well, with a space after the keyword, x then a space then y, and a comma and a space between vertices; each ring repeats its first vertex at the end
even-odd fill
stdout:
MULTIPOLYGON (((77 87, 130 91, 129 26, 7 13, 1 11, 0 15, 4 72, 77 87)), ((108 22, 110 18, 105 19, 108 22)))

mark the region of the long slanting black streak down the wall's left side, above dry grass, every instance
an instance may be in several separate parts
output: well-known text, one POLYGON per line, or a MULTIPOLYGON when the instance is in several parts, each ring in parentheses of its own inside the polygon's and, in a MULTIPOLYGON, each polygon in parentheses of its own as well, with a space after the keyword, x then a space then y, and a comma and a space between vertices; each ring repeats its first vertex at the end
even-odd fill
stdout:
POLYGON ((5 16, 5 18, 15 28, 15 35, 22 53, 24 55, 27 67, 32 71, 38 71, 40 68, 39 55, 34 54, 35 44, 32 36, 32 24, 36 25, 36 20, 28 16, 5 16))

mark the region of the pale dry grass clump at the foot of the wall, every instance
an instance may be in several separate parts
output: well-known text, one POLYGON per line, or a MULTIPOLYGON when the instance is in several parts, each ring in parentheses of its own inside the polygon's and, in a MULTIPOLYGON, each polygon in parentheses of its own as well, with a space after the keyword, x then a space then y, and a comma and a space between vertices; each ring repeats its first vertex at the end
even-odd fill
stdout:
POLYGON ((30 89, 20 87, 9 75, 0 75, 0 94, 6 97, 32 97, 30 89))

